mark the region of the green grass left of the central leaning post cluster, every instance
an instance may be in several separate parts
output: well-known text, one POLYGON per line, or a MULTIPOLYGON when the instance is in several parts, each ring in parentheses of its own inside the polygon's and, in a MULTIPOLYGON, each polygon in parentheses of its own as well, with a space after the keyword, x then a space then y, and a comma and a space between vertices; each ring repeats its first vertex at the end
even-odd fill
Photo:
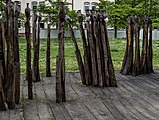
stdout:
MULTIPOLYGON (((26 71, 26 41, 24 39, 20 40, 20 61, 21 61, 21 72, 24 73, 26 71)), ((82 42, 78 40, 79 48, 82 50, 82 42)), ((40 59, 39 59, 39 68, 40 72, 45 73, 46 68, 46 40, 42 39, 40 41, 40 59)), ((76 57, 74 53, 74 45, 71 40, 65 40, 65 64, 66 71, 78 71, 78 66, 76 62, 76 57)), ((58 53, 58 42, 57 40, 51 40, 51 71, 55 72, 56 70, 56 56, 58 53)), ((33 49, 32 49, 33 56, 33 49)), ((33 57, 32 57, 33 60, 33 57)))

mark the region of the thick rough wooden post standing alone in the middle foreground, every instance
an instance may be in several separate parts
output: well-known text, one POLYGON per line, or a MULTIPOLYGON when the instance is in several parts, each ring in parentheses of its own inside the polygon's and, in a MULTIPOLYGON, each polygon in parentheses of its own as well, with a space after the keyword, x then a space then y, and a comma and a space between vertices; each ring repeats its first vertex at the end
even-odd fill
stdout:
POLYGON ((64 58, 64 25, 65 25, 65 8, 61 2, 58 14, 58 42, 59 50, 56 58, 56 102, 65 102, 65 58, 64 58))

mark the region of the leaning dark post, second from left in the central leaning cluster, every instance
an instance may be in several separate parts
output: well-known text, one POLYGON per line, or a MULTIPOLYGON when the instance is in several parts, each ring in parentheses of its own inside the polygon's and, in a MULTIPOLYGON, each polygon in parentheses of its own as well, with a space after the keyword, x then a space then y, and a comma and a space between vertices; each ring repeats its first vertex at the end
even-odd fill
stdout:
POLYGON ((84 49, 84 71, 85 71, 85 80, 86 80, 86 85, 91 85, 91 63, 90 63, 90 58, 89 58, 89 48, 87 45, 87 40, 85 36, 85 31, 83 28, 83 16, 81 14, 81 11, 78 11, 78 22, 79 22, 79 27, 80 27, 80 33, 83 41, 83 49, 84 49))

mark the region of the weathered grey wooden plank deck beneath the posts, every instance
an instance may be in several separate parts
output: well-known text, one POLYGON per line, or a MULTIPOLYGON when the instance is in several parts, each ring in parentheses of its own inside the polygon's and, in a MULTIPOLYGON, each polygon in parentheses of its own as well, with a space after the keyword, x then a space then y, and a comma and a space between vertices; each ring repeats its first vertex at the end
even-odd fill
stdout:
POLYGON ((78 73, 67 73, 67 102, 56 104, 55 76, 34 83, 34 100, 27 99, 22 76, 22 104, 0 112, 0 120, 159 120, 159 71, 116 77, 117 88, 96 88, 82 85, 78 73))

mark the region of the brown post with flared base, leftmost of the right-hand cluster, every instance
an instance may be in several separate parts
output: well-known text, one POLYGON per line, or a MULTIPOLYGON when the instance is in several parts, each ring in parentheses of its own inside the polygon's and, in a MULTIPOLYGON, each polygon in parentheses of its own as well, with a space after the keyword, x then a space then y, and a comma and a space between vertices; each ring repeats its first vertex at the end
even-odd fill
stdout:
POLYGON ((134 38, 133 28, 134 28, 133 17, 129 17, 128 30, 127 30, 127 46, 121 69, 121 73, 124 75, 131 74, 133 69, 133 38, 134 38))

